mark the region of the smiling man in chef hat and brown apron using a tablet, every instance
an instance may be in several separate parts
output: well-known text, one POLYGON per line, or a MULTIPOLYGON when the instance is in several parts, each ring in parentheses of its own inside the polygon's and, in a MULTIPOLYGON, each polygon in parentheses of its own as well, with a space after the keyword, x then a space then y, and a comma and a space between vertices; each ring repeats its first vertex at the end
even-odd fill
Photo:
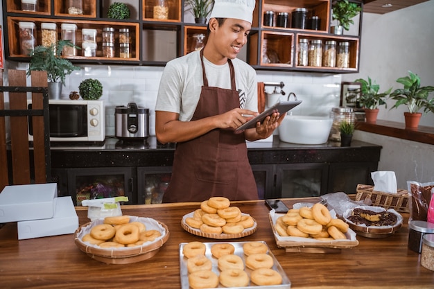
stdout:
POLYGON ((216 0, 207 44, 171 60, 155 107, 162 143, 177 143, 171 182, 163 202, 257 200, 245 140, 269 137, 284 116, 268 116, 256 128, 236 131, 257 115, 256 72, 236 56, 252 27, 254 0, 216 0))

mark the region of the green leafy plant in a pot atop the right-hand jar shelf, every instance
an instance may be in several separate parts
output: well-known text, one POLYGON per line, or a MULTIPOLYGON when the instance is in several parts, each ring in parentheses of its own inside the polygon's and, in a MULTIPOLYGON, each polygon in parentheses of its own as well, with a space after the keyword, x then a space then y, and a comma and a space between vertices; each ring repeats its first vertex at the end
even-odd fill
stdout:
POLYGON ((348 0, 333 2, 331 18, 338 21, 338 26, 333 26, 331 33, 343 34, 343 30, 349 30, 349 24, 354 24, 353 18, 361 12, 362 8, 358 3, 348 0))

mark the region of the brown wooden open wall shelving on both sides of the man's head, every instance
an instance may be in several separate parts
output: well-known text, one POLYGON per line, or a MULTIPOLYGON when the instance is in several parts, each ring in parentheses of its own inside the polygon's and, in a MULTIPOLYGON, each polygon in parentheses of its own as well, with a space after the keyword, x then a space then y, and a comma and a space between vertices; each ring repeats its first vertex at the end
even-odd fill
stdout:
MULTIPOLYGON (((39 0, 37 11, 21 10, 21 1, 3 1, 3 26, 5 28, 5 55, 12 61, 28 62, 19 47, 20 21, 33 22, 36 25, 36 43, 41 44, 41 23, 51 22, 58 26, 58 39, 61 39, 61 24, 76 24, 76 45, 81 46, 81 31, 83 28, 97 30, 97 52, 95 56, 83 56, 83 50, 77 56, 68 56, 74 63, 105 63, 164 66, 166 62, 192 51, 193 35, 207 35, 204 24, 184 23, 184 1, 166 0, 168 11, 160 17, 154 15, 157 0, 123 0, 130 8, 130 19, 116 20, 107 18, 107 10, 114 0, 83 1, 83 14, 68 14, 63 0, 39 0), (163 19, 162 19, 163 18, 163 19), (103 57, 103 28, 112 27, 115 30, 116 52, 114 58, 103 57), (120 58, 119 29, 130 30, 130 58, 120 58)), ((363 5, 362 1, 356 1, 363 5)), ((285 71, 315 71, 327 73, 356 72, 359 67, 360 36, 333 35, 329 33, 331 25, 331 0, 257 0, 254 9, 252 30, 246 44, 245 61, 254 69, 285 70, 285 71), (291 12, 296 8, 307 8, 308 17, 318 16, 318 30, 292 28, 290 26, 291 12), (288 27, 266 26, 263 15, 266 11, 275 12, 275 23, 279 12, 288 13, 288 27), (349 42, 349 68, 309 67, 297 63, 299 52, 297 43, 301 38, 310 40, 334 40, 349 42), (264 58, 268 51, 267 59, 264 58)), ((359 24, 361 26, 361 23, 359 24)), ((359 35, 361 33, 359 32, 359 35)), ((206 43, 206 37, 204 42, 206 43)))

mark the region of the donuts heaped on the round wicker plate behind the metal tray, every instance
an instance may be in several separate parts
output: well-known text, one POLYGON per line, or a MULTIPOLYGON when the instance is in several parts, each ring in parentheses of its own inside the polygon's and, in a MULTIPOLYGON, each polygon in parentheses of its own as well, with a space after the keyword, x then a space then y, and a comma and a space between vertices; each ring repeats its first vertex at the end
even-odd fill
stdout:
POLYGON ((254 226, 251 216, 243 215, 238 207, 231 207, 229 199, 211 197, 200 204, 200 209, 185 222, 207 234, 241 234, 254 226))

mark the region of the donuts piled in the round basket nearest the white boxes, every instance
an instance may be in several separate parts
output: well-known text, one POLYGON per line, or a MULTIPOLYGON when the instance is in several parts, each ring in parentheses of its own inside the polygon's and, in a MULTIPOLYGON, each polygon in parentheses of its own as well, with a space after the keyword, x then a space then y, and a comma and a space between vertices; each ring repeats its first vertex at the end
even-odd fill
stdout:
POLYGON ((82 240, 102 248, 119 248, 141 246, 159 236, 159 231, 146 230, 142 222, 130 222, 130 216, 117 216, 105 217, 103 224, 92 227, 82 240))

